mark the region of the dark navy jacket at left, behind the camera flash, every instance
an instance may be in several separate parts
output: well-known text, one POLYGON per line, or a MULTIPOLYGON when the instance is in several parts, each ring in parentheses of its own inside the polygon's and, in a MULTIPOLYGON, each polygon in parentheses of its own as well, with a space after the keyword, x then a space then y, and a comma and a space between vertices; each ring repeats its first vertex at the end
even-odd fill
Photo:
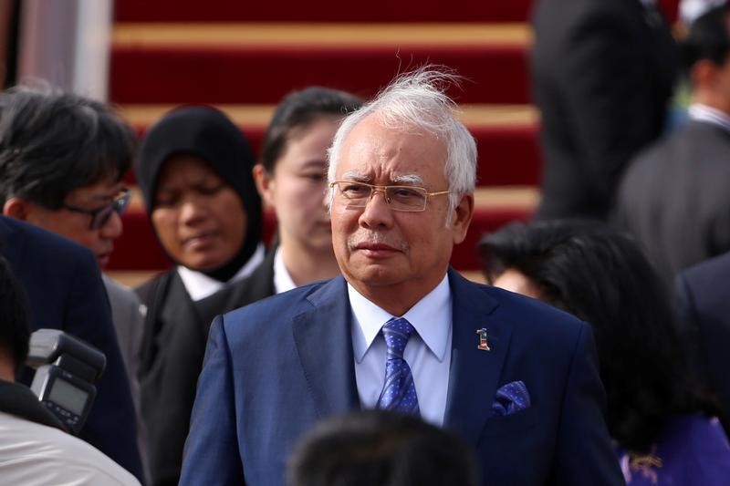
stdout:
MULTIPOLYGON (((106 355, 97 398, 79 437, 143 481, 130 383, 93 254, 57 234, 5 216, 0 216, 0 252, 25 287, 33 330, 63 330, 106 355)), ((26 384, 31 379, 32 372, 27 372, 26 384)))

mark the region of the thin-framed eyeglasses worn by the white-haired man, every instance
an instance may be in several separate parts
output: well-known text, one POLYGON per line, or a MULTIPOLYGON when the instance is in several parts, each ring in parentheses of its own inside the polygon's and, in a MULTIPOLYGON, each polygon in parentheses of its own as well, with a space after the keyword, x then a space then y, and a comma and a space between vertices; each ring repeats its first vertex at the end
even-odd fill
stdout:
POLYGON ((373 186, 372 184, 357 181, 334 181, 329 183, 330 188, 335 186, 347 200, 348 208, 364 208, 375 192, 382 192, 385 202, 391 206, 391 210, 409 212, 424 211, 426 201, 431 196, 441 196, 453 192, 429 192, 422 187, 413 186, 373 186))

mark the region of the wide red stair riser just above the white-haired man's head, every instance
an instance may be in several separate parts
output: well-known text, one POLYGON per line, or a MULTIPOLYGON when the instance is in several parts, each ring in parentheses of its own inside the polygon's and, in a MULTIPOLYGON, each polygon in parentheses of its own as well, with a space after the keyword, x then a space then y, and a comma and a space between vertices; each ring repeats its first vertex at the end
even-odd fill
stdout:
POLYGON ((132 48, 112 51, 117 103, 276 103, 311 85, 369 98, 399 72, 425 63, 454 68, 459 103, 530 102, 524 47, 132 48))

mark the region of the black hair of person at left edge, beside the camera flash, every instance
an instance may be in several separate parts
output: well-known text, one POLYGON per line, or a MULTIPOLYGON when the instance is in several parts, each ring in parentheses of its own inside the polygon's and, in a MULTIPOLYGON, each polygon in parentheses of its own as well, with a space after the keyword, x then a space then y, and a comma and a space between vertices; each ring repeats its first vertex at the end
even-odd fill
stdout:
POLYGON ((29 318, 26 291, 5 257, 0 256, 0 350, 13 358, 16 375, 28 356, 29 318))

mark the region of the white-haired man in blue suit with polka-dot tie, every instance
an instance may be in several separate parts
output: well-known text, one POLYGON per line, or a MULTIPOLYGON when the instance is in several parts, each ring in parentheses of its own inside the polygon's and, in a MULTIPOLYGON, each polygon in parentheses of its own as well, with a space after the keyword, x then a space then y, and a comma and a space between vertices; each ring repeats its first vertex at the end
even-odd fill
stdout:
POLYGON ((489 484, 621 484, 589 326, 449 268, 474 211, 474 139, 420 69, 345 119, 330 150, 342 276, 214 320, 181 484, 284 482, 319 419, 420 414, 489 484))

